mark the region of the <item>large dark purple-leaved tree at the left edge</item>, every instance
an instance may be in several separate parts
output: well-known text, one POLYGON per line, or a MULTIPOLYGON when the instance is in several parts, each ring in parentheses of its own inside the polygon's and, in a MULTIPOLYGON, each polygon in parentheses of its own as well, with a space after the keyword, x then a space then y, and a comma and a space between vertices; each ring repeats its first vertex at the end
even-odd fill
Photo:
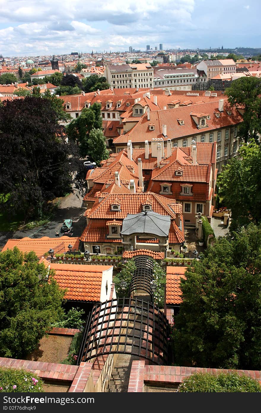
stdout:
POLYGON ((0 143, 0 193, 8 194, 0 207, 5 211, 41 217, 49 199, 72 192, 78 152, 73 143, 66 143, 51 100, 25 97, 3 102, 0 143))

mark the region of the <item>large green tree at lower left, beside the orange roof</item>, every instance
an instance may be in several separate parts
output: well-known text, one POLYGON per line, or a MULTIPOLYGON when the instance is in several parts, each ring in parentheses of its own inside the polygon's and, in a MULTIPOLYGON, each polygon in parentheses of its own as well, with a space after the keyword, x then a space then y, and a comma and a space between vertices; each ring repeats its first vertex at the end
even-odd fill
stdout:
POLYGON ((23 358, 62 313, 61 290, 34 253, 0 253, 0 355, 23 358))

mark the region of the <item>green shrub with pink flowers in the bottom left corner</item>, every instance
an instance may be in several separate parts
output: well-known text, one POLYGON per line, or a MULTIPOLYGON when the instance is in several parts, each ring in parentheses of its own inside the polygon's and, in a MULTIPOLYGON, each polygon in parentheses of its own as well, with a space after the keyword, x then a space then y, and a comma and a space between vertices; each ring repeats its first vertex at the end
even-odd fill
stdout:
POLYGON ((24 369, 0 367, 0 392, 44 392, 42 380, 24 369))

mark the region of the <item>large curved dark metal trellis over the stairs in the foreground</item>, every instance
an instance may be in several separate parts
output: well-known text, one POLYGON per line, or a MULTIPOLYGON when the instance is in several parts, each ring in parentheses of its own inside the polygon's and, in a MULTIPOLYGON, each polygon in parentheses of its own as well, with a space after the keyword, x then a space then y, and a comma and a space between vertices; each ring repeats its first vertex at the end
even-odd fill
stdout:
POLYGON ((78 364, 104 354, 132 354, 167 364, 169 323, 147 301, 123 298, 96 304, 89 313, 78 364))

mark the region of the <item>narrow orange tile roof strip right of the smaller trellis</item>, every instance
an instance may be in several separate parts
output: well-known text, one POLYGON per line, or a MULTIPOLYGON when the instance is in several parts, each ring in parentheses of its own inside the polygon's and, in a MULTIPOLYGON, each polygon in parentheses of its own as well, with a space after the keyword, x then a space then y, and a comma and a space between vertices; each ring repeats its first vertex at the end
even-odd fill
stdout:
POLYGON ((180 304, 181 290, 180 280, 185 277, 187 267, 167 266, 166 269, 166 304, 180 304))

